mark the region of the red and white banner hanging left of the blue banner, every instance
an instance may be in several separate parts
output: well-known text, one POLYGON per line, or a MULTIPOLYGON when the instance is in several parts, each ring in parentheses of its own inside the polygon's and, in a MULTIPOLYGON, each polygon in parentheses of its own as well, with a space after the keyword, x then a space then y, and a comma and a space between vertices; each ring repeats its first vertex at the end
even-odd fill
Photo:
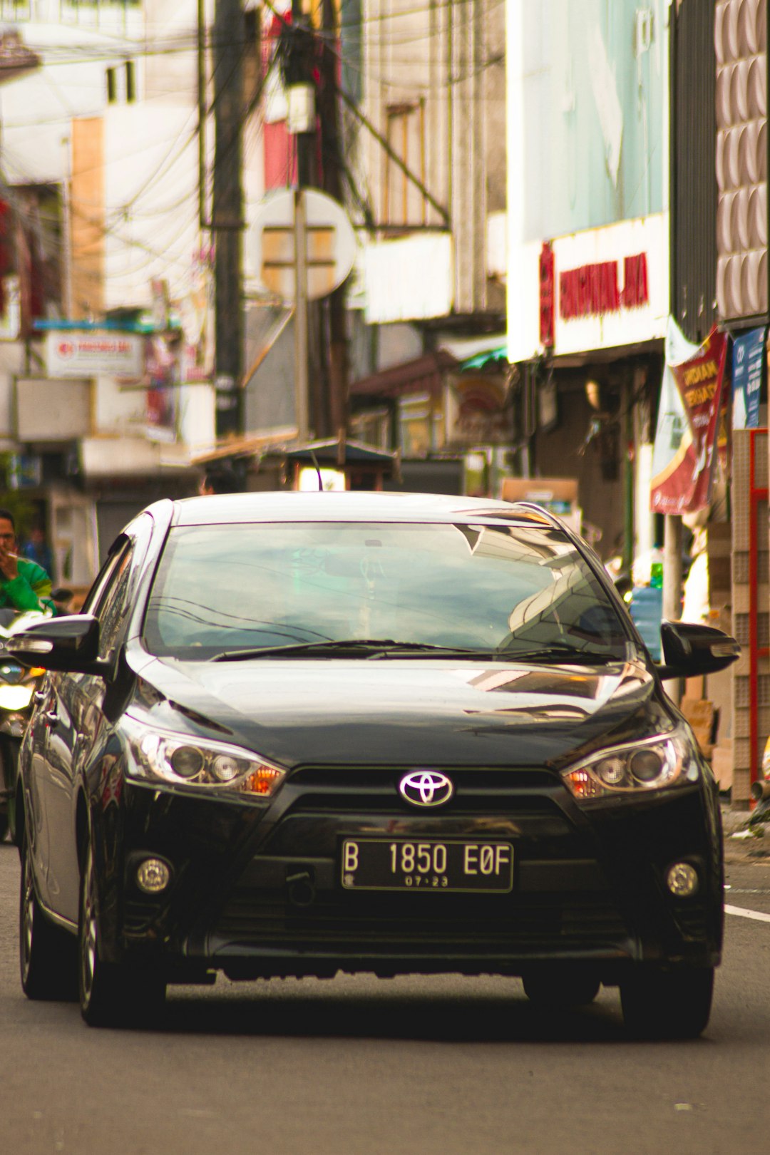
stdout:
MULTIPOLYGON (((723 387, 727 341, 727 334, 717 331, 715 327, 695 352, 673 363, 668 360, 670 341, 666 340, 664 387, 668 385, 671 389, 671 381, 666 381, 670 374, 679 393, 686 424, 679 445, 675 445, 675 438, 670 437, 668 445, 661 446, 658 453, 659 415, 650 493, 653 513, 694 513, 711 500, 717 441, 720 433, 726 438, 723 387)), ((661 410, 664 404, 670 411, 675 410, 675 403, 661 390, 661 410)))

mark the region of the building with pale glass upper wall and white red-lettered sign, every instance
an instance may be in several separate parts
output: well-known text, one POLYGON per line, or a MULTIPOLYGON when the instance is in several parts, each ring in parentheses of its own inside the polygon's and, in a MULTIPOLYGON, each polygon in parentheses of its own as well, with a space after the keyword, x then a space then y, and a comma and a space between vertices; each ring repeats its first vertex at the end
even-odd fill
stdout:
POLYGON ((626 564, 655 544, 668 315, 668 5, 507 3, 508 358, 521 471, 570 476, 626 564))

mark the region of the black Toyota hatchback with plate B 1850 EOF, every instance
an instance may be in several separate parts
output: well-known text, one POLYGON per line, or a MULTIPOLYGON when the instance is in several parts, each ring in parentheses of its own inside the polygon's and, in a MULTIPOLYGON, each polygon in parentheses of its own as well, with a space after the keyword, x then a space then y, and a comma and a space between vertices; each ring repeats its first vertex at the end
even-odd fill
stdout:
POLYGON ((48 673, 21 752, 21 975, 87 1022, 169 983, 519 975, 619 985, 635 1033, 705 1026, 718 795, 585 543, 531 505, 384 493, 159 501, 48 673))

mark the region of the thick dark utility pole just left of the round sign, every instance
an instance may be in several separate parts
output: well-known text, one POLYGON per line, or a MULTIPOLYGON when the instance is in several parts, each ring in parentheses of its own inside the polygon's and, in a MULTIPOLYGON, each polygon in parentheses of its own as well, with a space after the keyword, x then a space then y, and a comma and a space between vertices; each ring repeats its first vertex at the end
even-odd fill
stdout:
POLYGON ((240 0, 216 0, 214 16, 215 340, 217 437, 244 430, 239 387, 244 346, 241 188, 245 30, 240 0))

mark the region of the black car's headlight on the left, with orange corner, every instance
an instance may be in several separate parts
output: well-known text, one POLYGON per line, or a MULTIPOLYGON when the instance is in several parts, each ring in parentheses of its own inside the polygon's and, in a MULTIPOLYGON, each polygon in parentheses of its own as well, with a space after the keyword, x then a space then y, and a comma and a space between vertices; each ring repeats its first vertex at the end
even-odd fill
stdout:
POLYGON ((268 798, 286 772, 240 746, 196 742, 179 735, 140 729, 130 742, 135 777, 156 778, 177 785, 219 788, 251 798, 268 798))

